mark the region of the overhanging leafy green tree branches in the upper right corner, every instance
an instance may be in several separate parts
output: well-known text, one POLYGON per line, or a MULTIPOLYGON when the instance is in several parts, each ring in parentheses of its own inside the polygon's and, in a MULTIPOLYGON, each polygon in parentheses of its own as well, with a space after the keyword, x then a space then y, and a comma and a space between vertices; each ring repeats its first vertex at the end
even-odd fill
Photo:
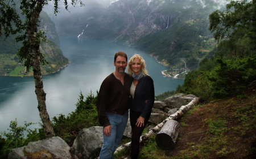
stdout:
POLYGON ((216 10, 209 15, 211 32, 219 42, 230 41, 237 54, 255 54, 256 47, 256 3, 255 1, 231 1, 225 11, 216 10))

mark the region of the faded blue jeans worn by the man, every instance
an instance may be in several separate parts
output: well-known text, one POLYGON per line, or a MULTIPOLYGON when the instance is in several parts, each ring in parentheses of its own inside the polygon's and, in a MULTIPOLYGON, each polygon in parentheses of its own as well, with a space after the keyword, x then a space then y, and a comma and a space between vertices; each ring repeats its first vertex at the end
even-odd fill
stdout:
POLYGON ((100 159, 114 158, 115 149, 120 144, 123 132, 128 121, 128 111, 124 115, 106 112, 109 122, 111 124, 111 135, 105 136, 103 134, 103 145, 100 152, 100 159))

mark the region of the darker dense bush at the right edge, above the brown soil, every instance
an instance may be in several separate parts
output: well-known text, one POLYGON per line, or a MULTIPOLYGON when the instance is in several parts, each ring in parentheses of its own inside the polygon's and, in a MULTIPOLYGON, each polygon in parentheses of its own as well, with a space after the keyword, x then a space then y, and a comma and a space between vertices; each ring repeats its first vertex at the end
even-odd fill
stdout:
POLYGON ((212 82, 213 97, 221 98, 240 93, 256 79, 256 59, 253 57, 217 59, 218 65, 209 74, 212 82))

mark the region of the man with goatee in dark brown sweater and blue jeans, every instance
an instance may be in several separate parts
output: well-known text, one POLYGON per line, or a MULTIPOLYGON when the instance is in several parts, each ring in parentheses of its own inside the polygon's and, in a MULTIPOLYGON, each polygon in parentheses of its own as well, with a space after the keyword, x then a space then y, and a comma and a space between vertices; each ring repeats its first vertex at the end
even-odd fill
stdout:
POLYGON ((100 158, 113 158, 128 120, 130 87, 133 78, 126 74, 127 55, 118 51, 114 56, 115 71, 101 84, 97 99, 98 120, 103 126, 104 142, 100 158))

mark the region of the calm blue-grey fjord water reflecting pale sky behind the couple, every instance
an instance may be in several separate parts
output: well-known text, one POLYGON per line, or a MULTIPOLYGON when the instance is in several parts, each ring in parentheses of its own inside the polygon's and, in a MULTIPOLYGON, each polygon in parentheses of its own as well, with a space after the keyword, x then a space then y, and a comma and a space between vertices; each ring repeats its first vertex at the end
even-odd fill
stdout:
MULTIPOLYGON (((60 45, 71 63, 55 74, 43 76, 50 118, 74 111, 80 92, 85 97, 90 91, 96 94, 102 80, 115 70, 114 54, 117 51, 125 51, 128 59, 133 54, 142 55, 148 74, 154 80, 156 95, 175 90, 177 85, 184 82, 182 79, 164 77, 161 71, 168 67, 129 46, 67 36, 60 37, 60 45)), ((0 94, 0 132, 6 131, 15 118, 22 126, 24 121, 40 122, 33 77, 0 76, 0 94)), ((39 127, 39 124, 34 127, 39 127)))

